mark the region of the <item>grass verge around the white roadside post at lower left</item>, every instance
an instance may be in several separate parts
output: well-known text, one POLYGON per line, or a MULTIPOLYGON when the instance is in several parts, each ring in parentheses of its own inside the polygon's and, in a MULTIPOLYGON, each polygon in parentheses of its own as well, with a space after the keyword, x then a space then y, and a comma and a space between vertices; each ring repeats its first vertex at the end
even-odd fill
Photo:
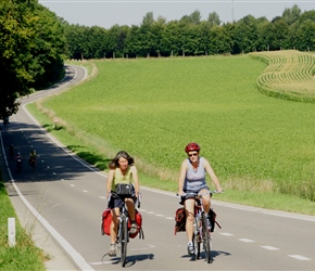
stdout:
POLYGON ((14 208, 10 202, 3 184, 0 170, 0 270, 46 270, 45 261, 48 255, 35 246, 32 235, 18 222, 14 208), (8 218, 15 218, 15 246, 8 244, 8 218))

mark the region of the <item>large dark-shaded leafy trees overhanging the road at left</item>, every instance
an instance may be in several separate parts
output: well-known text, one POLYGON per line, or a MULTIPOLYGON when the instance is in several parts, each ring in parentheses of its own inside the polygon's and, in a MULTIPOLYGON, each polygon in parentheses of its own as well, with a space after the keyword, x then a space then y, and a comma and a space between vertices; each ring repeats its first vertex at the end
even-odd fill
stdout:
POLYGON ((16 99, 63 76, 64 22, 37 0, 0 0, 0 119, 16 99))

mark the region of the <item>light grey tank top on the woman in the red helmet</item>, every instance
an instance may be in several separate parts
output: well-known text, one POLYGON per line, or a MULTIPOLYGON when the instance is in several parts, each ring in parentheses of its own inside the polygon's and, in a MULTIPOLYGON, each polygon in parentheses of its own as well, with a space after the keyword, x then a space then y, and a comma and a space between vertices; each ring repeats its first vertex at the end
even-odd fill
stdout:
POLYGON ((199 192, 201 188, 206 186, 204 158, 199 158, 199 166, 194 169, 187 158, 188 169, 184 182, 184 191, 199 192))

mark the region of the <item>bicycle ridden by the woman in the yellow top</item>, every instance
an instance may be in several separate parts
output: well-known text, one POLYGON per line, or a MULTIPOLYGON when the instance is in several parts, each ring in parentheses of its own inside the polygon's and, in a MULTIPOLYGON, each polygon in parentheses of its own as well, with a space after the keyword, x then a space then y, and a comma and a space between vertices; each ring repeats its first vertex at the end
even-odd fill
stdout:
MULTIPOLYGON (((112 194, 121 199, 124 199, 126 196, 123 198, 115 192, 112 191, 112 194)), ((109 203, 111 201, 111 196, 109 197, 109 203)), ((127 196, 127 197, 133 197, 134 195, 127 196)), ((127 244, 129 242, 129 230, 128 230, 128 220, 129 220, 129 215, 128 215, 128 209, 126 207, 125 201, 123 202, 123 207, 121 207, 121 214, 118 217, 118 230, 117 230, 117 236, 116 236, 116 244, 118 245, 118 248, 121 250, 121 263, 122 267, 125 267, 126 264, 126 257, 127 257, 127 244)), ((140 208, 140 194, 139 197, 137 198, 138 203, 138 208, 140 208)), ((135 204, 136 206, 136 204, 135 204)))

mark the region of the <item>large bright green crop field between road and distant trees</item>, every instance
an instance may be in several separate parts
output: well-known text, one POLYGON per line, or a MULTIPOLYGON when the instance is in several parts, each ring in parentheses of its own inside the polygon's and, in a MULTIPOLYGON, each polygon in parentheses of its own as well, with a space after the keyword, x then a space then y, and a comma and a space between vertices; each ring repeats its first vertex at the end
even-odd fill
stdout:
MULTIPOLYGON (((266 57, 279 70, 250 55, 94 61, 94 78, 40 106, 104 156, 126 150, 141 172, 161 180, 177 181, 185 145, 194 141, 225 189, 314 201, 315 105, 257 89, 287 80, 303 89, 306 78, 311 93, 310 72, 295 75, 295 57, 287 65, 282 53, 266 57)), ((308 55, 298 59, 310 65, 308 55)))

